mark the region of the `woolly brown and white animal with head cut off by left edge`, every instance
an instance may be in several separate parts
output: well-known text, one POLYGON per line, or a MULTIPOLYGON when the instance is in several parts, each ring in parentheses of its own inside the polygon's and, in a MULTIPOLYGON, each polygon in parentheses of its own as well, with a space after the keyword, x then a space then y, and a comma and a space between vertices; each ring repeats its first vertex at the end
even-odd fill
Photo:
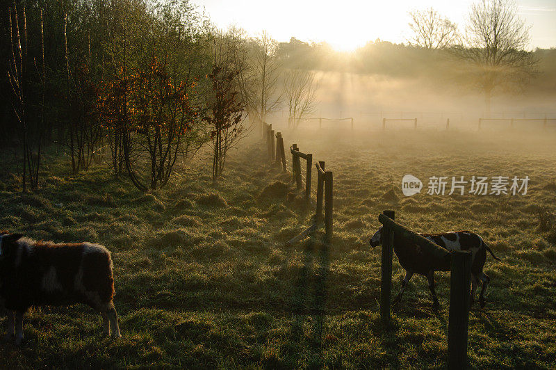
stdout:
POLYGON ((0 300, 8 309, 7 339, 23 340, 31 306, 85 303, 99 312, 104 335, 121 337, 113 304, 111 253, 99 244, 34 241, 0 233, 0 300))

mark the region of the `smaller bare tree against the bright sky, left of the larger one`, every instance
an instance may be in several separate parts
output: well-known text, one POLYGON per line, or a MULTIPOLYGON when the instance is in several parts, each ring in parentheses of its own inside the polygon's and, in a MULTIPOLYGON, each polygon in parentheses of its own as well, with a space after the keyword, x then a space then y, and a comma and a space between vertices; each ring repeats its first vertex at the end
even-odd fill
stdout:
POLYGON ((409 44, 426 49, 445 49, 457 42, 457 25, 433 8, 409 12, 409 28, 413 36, 409 44))

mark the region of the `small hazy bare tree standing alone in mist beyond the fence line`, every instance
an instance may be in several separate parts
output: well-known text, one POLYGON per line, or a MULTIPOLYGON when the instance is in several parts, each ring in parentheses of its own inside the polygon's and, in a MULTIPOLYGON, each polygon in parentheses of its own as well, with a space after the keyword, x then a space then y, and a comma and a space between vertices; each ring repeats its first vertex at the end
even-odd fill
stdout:
POLYGON ((284 97, 288 104, 289 122, 295 129, 303 118, 315 111, 315 75, 306 70, 288 70, 284 77, 284 97))

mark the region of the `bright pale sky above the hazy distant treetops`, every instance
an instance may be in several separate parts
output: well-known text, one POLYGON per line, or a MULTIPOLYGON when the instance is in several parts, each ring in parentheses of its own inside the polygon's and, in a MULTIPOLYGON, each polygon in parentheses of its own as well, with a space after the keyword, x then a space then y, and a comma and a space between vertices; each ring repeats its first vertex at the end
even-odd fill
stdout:
MULTIPOLYGON (((464 28, 472 0, 192 0, 220 29, 237 25, 252 36, 265 30, 278 41, 291 37, 327 42, 352 51, 368 41, 406 42, 410 10, 434 8, 464 28)), ((556 0, 518 0, 531 26, 530 48, 556 47, 556 0)))

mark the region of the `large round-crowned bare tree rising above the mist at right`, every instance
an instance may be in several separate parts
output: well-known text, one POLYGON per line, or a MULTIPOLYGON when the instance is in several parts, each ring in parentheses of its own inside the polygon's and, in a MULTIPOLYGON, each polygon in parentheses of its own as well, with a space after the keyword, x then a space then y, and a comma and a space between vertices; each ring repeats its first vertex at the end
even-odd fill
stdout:
POLYGON ((487 115, 497 88, 523 88, 536 72, 538 60, 526 50, 529 31, 514 1, 480 0, 471 6, 465 43, 455 51, 470 62, 466 72, 484 93, 487 115))

